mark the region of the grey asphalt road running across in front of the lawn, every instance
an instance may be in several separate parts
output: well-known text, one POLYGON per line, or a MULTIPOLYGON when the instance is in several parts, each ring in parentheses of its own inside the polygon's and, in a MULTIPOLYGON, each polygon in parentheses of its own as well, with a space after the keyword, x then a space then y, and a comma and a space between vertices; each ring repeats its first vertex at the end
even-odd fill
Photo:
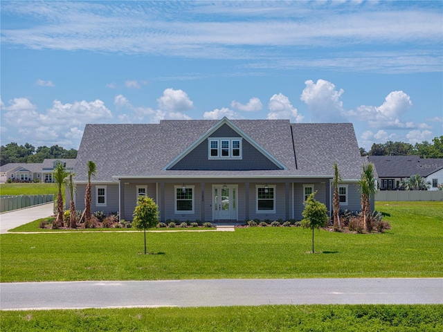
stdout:
POLYGON ((0 284, 1 310, 262 304, 443 304, 443 279, 212 279, 0 284))

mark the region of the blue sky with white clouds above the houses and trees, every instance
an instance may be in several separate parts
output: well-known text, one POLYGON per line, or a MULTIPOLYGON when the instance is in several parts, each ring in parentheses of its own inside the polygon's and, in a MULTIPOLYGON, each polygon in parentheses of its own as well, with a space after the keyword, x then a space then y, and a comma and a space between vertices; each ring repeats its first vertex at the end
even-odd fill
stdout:
POLYGON ((0 6, 2 145, 223 116, 352 122, 366 150, 443 135, 443 1, 0 6))

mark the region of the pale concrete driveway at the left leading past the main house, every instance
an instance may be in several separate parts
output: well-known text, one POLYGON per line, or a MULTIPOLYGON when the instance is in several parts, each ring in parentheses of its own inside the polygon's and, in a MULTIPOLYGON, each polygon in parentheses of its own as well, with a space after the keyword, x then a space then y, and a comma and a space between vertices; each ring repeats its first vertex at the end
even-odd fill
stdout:
POLYGON ((54 214, 54 202, 31 206, 30 208, 3 212, 0 214, 0 234, 12 230, 19 225, 30 223, 54 214))

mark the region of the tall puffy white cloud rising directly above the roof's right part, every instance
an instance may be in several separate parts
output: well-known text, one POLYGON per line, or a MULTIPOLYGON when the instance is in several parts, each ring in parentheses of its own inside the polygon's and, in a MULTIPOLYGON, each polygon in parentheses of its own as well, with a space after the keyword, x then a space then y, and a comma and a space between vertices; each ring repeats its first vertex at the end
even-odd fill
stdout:
POLYGON ((306 87, 300 95, 300 100, 307 104, 312 112, 314 122, 343 122, 343 89, 336 90, 335 85, 326 80, 305 81, 306 87))

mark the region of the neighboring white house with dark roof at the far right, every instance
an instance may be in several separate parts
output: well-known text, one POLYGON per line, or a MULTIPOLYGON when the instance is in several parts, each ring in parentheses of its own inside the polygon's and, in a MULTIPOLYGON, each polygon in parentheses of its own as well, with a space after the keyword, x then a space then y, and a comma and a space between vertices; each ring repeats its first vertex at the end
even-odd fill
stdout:
POLYGON ((429 190, 437 190, 443 183, 443 159, 419 156, 369 156, 377 168, 380 190, 398 190, 401 180, 419 174, 431 183, 429 190))

